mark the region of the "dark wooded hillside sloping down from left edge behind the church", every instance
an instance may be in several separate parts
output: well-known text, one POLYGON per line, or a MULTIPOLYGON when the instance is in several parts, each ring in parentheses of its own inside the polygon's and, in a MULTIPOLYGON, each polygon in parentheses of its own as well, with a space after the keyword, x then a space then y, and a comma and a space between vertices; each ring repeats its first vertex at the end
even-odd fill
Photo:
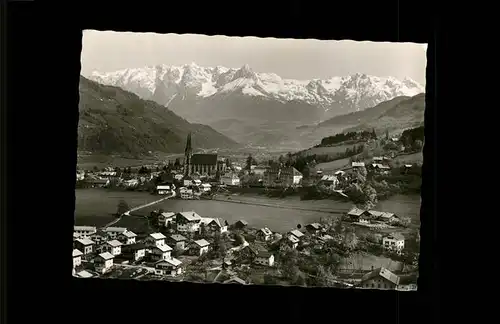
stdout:
POLYGON ((80 77, 78 147, 82 151, 141 155, 183 152, 193 133, 195 148, 237 147, 206 125, 191 124, 169 109, 123 89, 80 77))

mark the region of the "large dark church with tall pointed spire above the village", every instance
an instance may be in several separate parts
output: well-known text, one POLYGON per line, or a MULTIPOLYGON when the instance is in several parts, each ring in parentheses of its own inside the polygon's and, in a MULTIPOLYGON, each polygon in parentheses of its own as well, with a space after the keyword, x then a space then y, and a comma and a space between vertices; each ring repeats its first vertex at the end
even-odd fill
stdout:
POLYGON ((189 133, 184 150, 184 175, 190 176, 193 173, 199 173, 200 175, 215 176, 217 171, 224 174, 226 162, 219 160, 217 154, 193 154, 191 133, 189 133))

